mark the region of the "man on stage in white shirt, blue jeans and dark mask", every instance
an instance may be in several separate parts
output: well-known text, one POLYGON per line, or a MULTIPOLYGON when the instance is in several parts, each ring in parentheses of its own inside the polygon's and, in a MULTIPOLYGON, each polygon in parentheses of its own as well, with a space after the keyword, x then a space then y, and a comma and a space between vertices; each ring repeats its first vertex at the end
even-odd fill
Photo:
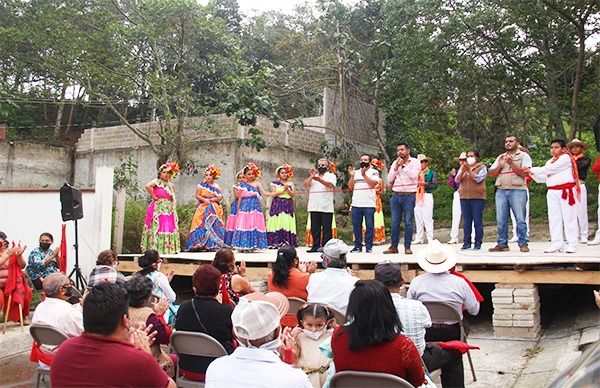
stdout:
POLYGON ((362 225, 365 221, 365 249, 371 253, 375 235, 375 204, 377 193, 375 186, 379 182, 379 173, 371 167, 371 156, 360 157, 360 170, 355 171, 348 166, 348 188, 352 190, 352 231, 354 232, 354 248, 351 252, 362 252, 362 225))

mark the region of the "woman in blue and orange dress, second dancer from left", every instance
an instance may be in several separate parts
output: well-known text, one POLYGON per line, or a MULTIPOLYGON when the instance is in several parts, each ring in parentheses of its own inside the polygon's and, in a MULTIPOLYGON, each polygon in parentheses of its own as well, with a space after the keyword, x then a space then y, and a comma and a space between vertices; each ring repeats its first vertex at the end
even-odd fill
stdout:
POLYGON ((206 251, 223 247, 223 194, 219 185, 215 183, 215 179, 220 177, 221 170, 211 164, 204 171, 204 181, 196 188, 198 208, 192 218, 186 251, 206 251))

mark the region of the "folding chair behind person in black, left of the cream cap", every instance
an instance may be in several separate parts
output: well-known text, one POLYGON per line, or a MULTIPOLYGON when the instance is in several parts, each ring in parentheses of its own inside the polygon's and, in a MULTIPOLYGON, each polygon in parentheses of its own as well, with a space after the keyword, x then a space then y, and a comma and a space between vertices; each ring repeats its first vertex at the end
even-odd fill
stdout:
MULTIPOLYGON (((171 334, 171 348, 177 353, 177 356, 186 354, 188 356, 214 357, 226 356, 227 351, 213 337, 192 331, 173 331, 171 334)), ((192 381, 183 376, 179 376, 179 366, 175 367, 175 378, 178 387, 204 387, 202 381, 192 381)))

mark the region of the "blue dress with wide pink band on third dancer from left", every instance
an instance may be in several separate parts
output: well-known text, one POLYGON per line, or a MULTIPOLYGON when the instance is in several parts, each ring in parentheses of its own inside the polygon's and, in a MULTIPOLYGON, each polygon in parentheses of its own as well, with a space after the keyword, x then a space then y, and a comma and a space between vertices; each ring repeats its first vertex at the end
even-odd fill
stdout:
POLYGON ((267 230, 260 205, 260 190, 247 182, 238 186, 240 204, 236 214, 231 247, 241 250, 266 249, 267 230))

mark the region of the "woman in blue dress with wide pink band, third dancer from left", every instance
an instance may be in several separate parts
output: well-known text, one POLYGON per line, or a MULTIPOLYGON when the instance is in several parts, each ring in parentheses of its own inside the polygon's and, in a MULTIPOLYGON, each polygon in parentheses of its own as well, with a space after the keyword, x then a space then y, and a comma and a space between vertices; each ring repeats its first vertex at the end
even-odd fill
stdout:
POLYGON ((236 214, 235 230, 231 237, 231 246, 241 251, 254 251, 267 248, 267 230, 260 198, 272 194, 263 189, 260 182, 261 171, 254 163, 248 163, 242 170, 244 181, 238 186, 239 204, 236 214))

